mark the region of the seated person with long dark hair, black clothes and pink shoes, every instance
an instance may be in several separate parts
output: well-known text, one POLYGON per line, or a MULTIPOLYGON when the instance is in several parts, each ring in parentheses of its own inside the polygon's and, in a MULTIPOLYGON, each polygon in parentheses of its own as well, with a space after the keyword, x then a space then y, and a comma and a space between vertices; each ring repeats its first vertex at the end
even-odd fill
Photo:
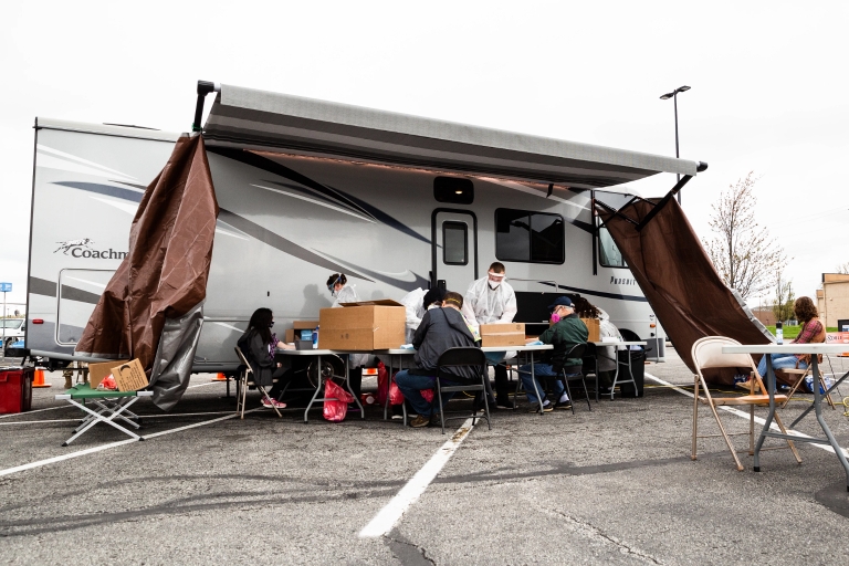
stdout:
POLYGON ((274 314, 271 308, 258 308, 251 315, 248 323, 248 329, 237 342, 237 346, 242 350, 253 371, 253 382, 262 387, 272 386, 269 391, 271 401, 263 397, 262 405, 271 408, 275 406, 279 409, 285 409, 286 403, 276 400, 280 391, 285 386, 285 369, 283 365, 274 360, 276 348, 294 349, 285 342, 279 342, 277 335, 272 334, 271 327, 274 326, 274 314), (277 380, 274 384, 274 379, 277 380))

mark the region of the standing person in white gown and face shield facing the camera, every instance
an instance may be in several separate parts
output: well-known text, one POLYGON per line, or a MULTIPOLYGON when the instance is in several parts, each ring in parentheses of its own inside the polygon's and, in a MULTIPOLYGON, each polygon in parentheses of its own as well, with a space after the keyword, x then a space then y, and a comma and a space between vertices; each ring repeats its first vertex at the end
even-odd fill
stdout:
MULTIPOLYGON (((481 277, 465 292, 463 301, 463 315, 474 326, 481 324, 512 323, 516 316, 516 293, 504 281, 506 270, 501 262, 490 265, 485 277, 481 277)), ((507 369, 500 364, 504 359, 501 356, 489 353, 486 359, 495 366, 495 407, 499 409, 512 409, 507 386, 507 369)))

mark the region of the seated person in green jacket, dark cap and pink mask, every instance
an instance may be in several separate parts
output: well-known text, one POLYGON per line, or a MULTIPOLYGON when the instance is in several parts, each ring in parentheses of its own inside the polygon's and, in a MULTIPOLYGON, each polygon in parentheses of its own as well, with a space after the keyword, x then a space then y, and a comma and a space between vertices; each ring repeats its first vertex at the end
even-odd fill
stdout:
MULTIPOLYGON (((554 349, 551 352, 548 361, 534 364, 535 377, 556 377, 560 368, 566 375, 578 374, 583 365, 580 358, 566 358, 566 354, 577 344, 586 344, 589 337, 589 331, 587 325, 580 322, 578 315, 575 314, 575 307, 572 304, 572 300, 567 296, 557 297, 553 305, 548 308, 552 310, 552 322, 554 324, 539 336, 539 342, 544 344, 551 344, 554 349)), ((570 409, 572 401, 566 395, 565 387, 559 379, 554 380, 554 390, 557 395, 557 402, 552 406, 548 399, 544 399, 542 407, 539 400, 534 394, 534 384, 531 379, 531 364, 525 364, 518 368, 518 373, 522 376, 522 384, 525 387, 527 394, 527 400, 531 403, 530 412, 537 412, 541 409, 545 412, 549 412, 553 409, 570 409)), ((537 388, 539 391, 545 391, 544 384, 537 379, 537 388)))

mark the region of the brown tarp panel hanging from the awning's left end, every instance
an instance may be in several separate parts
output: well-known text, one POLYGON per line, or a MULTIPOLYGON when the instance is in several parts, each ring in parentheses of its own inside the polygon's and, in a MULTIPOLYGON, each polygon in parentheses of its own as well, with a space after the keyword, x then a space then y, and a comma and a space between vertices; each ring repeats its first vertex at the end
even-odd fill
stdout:
POLYGON ((94 308, 78 354, 137 357, 150 369, 166 317, 206 298, 218 210, 203 138, 181 137, 142 198, 129 252, 94 308))

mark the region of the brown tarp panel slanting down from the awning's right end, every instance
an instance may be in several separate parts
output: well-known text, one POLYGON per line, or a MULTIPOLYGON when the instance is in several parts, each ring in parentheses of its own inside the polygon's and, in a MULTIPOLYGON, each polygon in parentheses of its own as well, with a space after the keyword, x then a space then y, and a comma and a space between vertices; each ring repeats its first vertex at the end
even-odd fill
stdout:
MULTIPOLYGON (((653 208, 636 200, 619 210, 637 223, 653 208)), ((693 370, 690 348, 703 336, 768 344, 720 279, 681 207, 671 199, 641 231, 621 216, 599 210, 616 245, 681 359, 693 370)), ((715 380, 733 382, 733 371, 715 380)))

